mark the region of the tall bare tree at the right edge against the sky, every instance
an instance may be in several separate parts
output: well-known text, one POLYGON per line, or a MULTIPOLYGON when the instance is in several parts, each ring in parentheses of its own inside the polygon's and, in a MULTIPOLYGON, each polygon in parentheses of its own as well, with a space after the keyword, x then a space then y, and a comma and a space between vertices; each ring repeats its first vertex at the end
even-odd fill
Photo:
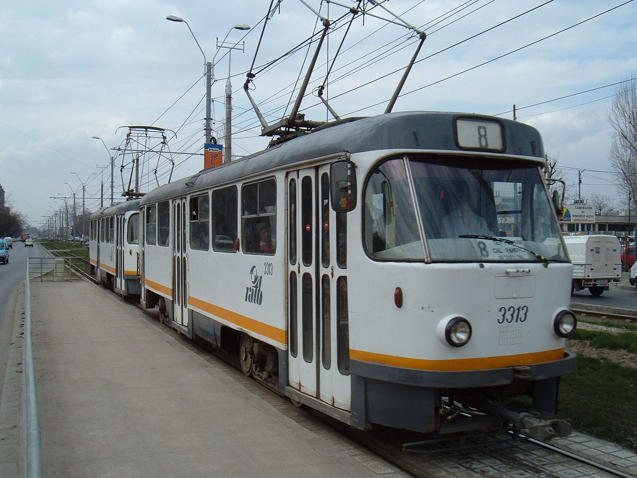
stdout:
POLYGON ((617 173, 617 190, 625 198, 635 199, 637 192, 637 79, 620 85, 606 119, 612 127, 609 160, 610 168, 617 173))

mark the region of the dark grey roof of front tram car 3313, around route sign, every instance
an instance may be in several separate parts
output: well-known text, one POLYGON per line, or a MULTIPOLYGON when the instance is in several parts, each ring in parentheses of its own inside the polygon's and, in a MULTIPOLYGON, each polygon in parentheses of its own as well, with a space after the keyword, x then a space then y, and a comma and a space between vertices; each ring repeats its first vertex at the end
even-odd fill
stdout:
POLYGON ((141 204, 181 196, 299 161, 340 153, 387 149, 459 151, 454 133, 454 119, 458 116, 498 120, 504 125, 506 143, 506 150, 500 154, 538 157, 540 161, 544 161, 540 133, 524 123, 473 113, 385 113, 334 122, 232 163, 174 180, 148 192, 141 198, 141 204))

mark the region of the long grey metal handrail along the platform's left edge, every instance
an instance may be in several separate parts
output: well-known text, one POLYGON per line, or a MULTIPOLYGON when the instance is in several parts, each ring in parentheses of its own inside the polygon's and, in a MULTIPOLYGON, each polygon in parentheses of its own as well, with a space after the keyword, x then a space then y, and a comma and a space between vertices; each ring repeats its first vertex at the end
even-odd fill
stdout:
MULTIPOLYGON (((29 259, 32 259, 32 257, 29 259)), ((24 345, 22 347, 24 476, 27 478, 40 478, 42 476, 42 440, 39 428, 38 393, 36 389, 33 342, 31 338, 31 281, 29 280, 29 259, 27 259, 25 280, 24 345)))

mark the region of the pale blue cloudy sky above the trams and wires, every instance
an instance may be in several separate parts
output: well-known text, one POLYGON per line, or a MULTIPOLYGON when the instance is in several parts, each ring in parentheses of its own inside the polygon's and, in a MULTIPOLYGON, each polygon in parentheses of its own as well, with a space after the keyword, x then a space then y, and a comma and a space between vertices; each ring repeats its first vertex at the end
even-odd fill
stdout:
MULTIPOLYGON (((359 15, 332 62, 347 29, 347 17, 340 19, 346 10, 320 0, 307 3, 335 23, 301 111, 307 119, 329 119, 311 91, 331 68, 324 96, 341 117, 382 113, 417 39, 404 27, 359 15)), ((354 5, 351 0, 340 3, 354 5)), ((299 72, 304 74, 303 63, 313 52, 297 47, 320 28, 315 13, 299 0, 282 0, 262 34, 269 4, 269 0, 4 4, 0 185, 8 204, 31 224, 40 225, 64 206, 64 199, 52 197, 71 198, 75 192, 81 208, 84 184, 85 208, 95 210, 101 181, 110 201, 111 155, 117 199, 122 182, 127 187, 131 177, 132 154, 111 148, 127 146, 127 126, 167 130, 164 150, 172 154, 142 155, 143 190, 168 180, 169 158, 175 162, 173 178, 200 170, 204 56, 215 64, 213 134, 224 136, 230 50, 217 49, 224 38, 225 45, 245 44, 245 51, 233 50, 230 62, 233 155, 264 148, 267 140, 259 137, 259 121, 243 91, 246 72, 254 65, 251 94, 268 122, 280 119, 289 113, 299 72), (203 54, 187 25, 169 22, 167 15, 187 20, 203 54), (232 29, 246 24, 252 26, 250 31, 232 29), (279 61, 271 64, 275 59, 279 61)), ((606 113, 617 92, 613 83, 637 74, 636 2, 391 0, 386 4, 427 33, 419 62, 394 111, 444 110, 511 118, 515 104, 518 119, 540 130, 547 153, 559 159, 573 191, 578 170, 585 170, 582 196, 602 194, 619 205, 622 198, 608 172, 606 113), (589 90, 593 91, 585 92, 589 90), (564 96, 569 97, 550 101, 564 96), (543 104, 527 108, 536 103, 543 104)), ((373 12, 389 17, 380 8, 373 12)), ((161 147, 155 138, 131 139, 136 140, 129 144, 132 149, 161 147)))

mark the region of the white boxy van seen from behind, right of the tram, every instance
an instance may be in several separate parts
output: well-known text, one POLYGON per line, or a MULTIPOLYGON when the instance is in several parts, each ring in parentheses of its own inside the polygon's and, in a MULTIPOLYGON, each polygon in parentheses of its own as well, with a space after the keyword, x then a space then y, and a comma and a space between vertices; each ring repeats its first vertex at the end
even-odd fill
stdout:
POLYGON ((619 284, 622 260, 615 236, 566 236, 564 243, 573 263, 571 294, 589 289, 592 295, 601 296, 609 286, 619 284))

